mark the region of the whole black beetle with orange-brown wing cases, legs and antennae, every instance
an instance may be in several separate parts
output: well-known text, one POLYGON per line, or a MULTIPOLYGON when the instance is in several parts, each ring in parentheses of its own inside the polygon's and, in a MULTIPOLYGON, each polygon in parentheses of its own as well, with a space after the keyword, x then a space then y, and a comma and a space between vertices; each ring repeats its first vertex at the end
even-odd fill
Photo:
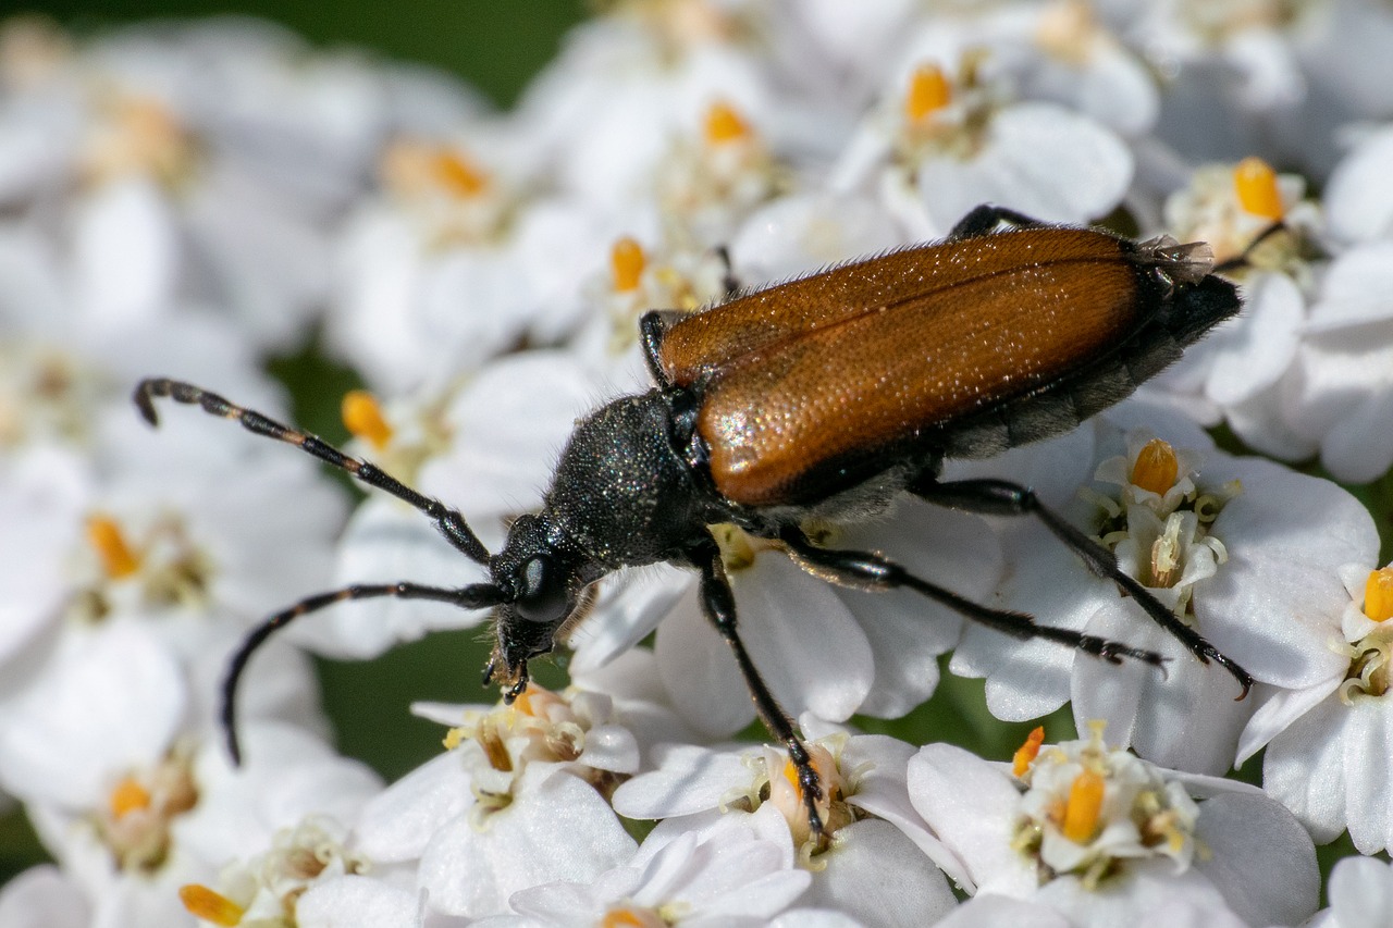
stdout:
POLYGON ((820 835, 818 773, 741 642, 709 531, 716 524, 779 542, 832 582, 908 588, 1018 640, 1163 666, 1156 652, 971 602, 878 553, 820 548, 804 531, 808 520, 883 510, 901 492, 1041 520, 1192 655, 1233 674, 1243 698, 1252 677, 1241 666, 1029 488, 940 479, 946 458, 990 457, 1064 433, 1131 394, 1240 311, 1237 288, 1215 272, 1205 242, 1135 242, 983 205, 942 242, 736 294, 694 314, 651 311, 639 330, 655 386, 577 424, 540 511, 520 516, 497 553, 457 510, 365 460, 198 386, 146 379, 134 399, 152 425, 155 399, 167 397, 295 444, 421 510, 489 571, 486 582, 460 588, 351 585, 266 619, 234 655, 224 684, 231 755, 240 758, 235 695, 247 660, 299 616, 375 596, 493 609, 496 642, 483 683, 500 684, 513 702, 528 686, 528 662, 549 654, 586 612, 592 584, 620 569, 670 562, 698 571, 701 608, 730 645, 761 719, 787 748, 812 833, 820 835))

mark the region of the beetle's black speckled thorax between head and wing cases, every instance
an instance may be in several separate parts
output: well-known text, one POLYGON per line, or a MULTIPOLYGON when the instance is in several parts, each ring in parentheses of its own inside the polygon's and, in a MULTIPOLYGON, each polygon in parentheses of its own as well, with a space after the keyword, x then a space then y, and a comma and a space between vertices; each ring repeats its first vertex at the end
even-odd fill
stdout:
POLYGON ((620 397, 582 419, 546 495, 552 523, 612 570, 673 557, 708 509, 677 428, 660 390, 620 397))

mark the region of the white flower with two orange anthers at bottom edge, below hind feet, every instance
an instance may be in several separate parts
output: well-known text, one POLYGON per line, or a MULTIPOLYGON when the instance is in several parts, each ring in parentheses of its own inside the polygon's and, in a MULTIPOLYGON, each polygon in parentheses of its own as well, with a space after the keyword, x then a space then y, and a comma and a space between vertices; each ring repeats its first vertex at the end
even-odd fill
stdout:
POLYGON ((1032 738, 1011 768, 943 744, 910 761, 915 808, 979 893, 1041 899, 1080 925, 1130 924, 1174 896, 1261 925, 1315 910, 1315 849, 1286 810, 1109 748, 1100 729, 1043 750, 1032 738), (1197 807, 1188 791, 1213 798, 1197 807))

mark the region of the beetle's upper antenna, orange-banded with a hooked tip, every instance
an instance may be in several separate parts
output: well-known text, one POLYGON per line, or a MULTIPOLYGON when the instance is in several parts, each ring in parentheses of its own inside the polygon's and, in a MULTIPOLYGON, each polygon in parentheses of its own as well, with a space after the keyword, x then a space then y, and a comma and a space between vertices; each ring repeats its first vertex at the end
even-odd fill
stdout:
POLYGON ((276 422, 255 410, 244 410, 235 403, 231 403, 210 390, 205 390, 203 387, 194 386, 192 383, 185 383, 182 380, 171 380, 169 378, 148 378, 141 380, 135 387, 135 394, 132 397, 135 400, 135 405, 139 408, 145 421, 150 425, 160 424, 160 417, 155 411, 155 397, 169 397, 176 403, 202 407, 202 410, 209 415, 217 415, 224 419, 237 419, 241 422, 242 428, 252 435, 265 435, 266 438, 273 438, 277 442, 294 444, 299 450, 318 457, 326 464, 333 464, 341 471, 348 471, 368 486, 386 490, 404 503, 408 503, 425 513, 426 517, 436 524, 436 528, 440 529, 440 534, 446 536, 446 541, 456 548, 456 550, 476 564, 488 566, 489 549, 483 546, 483 542, 481 542, 479 536, 474 534, 458 510, 449 509, 440 500, 418 493, 383 471, 376 464, 350 457, 333 444, 320 439, 318 435, 311 435, 309 432, 301 432, 299 429, 281 425, 280 422, 276 422))

